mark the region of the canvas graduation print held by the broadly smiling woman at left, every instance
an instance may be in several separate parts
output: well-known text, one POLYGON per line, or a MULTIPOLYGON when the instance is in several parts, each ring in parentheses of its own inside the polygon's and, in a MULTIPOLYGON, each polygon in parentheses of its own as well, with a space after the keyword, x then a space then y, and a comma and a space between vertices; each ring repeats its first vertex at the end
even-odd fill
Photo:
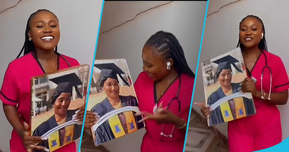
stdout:
POLYGON ((72 116, 85 105, 89 65, 32 78, 31 135, 47 137, 38 145, 54 151, 80 138, 82 120, 72 116))

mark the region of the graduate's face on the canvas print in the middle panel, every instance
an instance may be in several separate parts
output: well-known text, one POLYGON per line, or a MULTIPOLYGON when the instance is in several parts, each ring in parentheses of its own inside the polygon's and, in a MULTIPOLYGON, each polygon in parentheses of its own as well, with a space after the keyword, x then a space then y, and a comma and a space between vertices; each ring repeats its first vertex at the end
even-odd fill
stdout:
POLYGON ((103 83, 103 90, 108 97, 118 97, 119 85, 117 80, 113 78, 107 78, 103 83))

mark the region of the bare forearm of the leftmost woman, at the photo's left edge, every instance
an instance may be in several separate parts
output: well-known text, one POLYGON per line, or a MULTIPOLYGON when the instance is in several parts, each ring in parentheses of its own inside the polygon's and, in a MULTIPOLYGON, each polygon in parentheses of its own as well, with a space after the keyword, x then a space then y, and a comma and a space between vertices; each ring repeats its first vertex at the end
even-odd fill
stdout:
POLYGON ((3 110, 9 123, 16 130, 16 132, 19 135, 21 135, 21 133, 25 131, 25 129, 24 129, 23 123, 21 122, 17 108, 3 103, 3 110))

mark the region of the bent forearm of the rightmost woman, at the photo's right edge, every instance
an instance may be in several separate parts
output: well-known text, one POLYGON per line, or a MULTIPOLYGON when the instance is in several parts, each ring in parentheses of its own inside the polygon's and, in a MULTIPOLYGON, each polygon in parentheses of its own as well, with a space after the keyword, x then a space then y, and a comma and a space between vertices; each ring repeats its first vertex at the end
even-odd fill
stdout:
MULTIPOLYGON (((265 96, 263 94, 264 98, 266 98, 264 102, 270 104, 285 105, 288 101, 288 90, 282 92, 271 92, 270 100, 267 99, 269 97, 269 93, 265 92, 265 94, 266 94, 265 96)), ((252 95, 255 96, 256 98, 261 98, 262 93, 260 90, 256 90, 256 92, 252 95)))

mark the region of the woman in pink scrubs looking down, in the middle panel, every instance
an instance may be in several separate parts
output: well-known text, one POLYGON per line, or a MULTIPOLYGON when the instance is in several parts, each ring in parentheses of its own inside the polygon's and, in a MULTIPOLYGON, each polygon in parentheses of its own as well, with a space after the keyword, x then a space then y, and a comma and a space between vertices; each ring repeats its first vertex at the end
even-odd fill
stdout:
POLYGON ((195 75, 171 33, 160 31, 151 36, 142 49, 142 59, 144 72, 134 84, 147 131, 141 152, 181 152, 195 75), (155 105, 158 110, 153 113, 155 105))

